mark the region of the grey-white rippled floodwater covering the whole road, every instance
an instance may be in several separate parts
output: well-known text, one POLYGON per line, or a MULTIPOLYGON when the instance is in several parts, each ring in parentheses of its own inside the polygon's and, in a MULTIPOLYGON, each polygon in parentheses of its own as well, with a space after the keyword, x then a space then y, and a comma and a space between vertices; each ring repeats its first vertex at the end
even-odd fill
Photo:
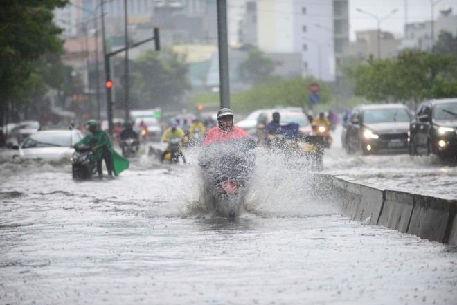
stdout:
MULTIPOLYGON (((393 174, 375 167, 409 158, 335 144, 325 171, 381 183, 393 174)), ((265 151, 245 211, 219 218, 186 157, 82 182, 68 163, 3 159, 0 304, 457 304, 455 247, 348 219, 325 181, 265 151)))

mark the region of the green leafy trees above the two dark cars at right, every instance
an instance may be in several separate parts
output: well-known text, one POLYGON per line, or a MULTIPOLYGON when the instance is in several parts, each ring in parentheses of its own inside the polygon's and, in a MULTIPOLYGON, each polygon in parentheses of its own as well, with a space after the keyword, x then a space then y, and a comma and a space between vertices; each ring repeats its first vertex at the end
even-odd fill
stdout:
POLYGON ((355 94, 374 102, 418 102, 457 96, 457 57, 405 50, 395 59, 368 59, 346 70, 355 94))

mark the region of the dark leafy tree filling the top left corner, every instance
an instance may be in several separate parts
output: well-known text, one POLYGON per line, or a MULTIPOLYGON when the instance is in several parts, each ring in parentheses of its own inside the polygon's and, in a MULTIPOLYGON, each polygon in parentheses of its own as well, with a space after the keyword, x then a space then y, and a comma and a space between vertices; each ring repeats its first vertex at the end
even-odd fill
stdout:
POLYGON ((2 1, 0 6, 0 124, 3 124, 8 101, 21 98, 26 84, 36 83, 31 77, 34 62, 45 53, 62 50, 53 24, 53 10, 64 7, 68 0, 2 1), (29 82, 29 83, 27 83, 29 82))

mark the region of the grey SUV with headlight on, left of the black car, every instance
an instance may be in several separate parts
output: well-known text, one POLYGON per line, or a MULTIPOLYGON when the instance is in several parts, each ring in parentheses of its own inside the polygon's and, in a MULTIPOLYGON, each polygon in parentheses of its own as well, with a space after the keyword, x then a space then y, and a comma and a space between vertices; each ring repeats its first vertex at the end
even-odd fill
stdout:
POLYGON ((363 104, 352 109, 343 125, 348 154, 406 154, 411 113, 404 104, 363 104))

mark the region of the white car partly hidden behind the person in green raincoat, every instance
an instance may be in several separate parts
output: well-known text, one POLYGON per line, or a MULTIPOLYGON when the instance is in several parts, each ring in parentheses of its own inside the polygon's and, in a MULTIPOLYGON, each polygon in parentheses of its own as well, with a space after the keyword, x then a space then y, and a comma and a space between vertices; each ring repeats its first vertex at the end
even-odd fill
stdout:
POLYGON ((30 159, 60 160, 71 159, 75 149, 73 146, 82 138, 84 133, 73 130, 44 130, 32 133, 20 146, 19 157, 30 159))

